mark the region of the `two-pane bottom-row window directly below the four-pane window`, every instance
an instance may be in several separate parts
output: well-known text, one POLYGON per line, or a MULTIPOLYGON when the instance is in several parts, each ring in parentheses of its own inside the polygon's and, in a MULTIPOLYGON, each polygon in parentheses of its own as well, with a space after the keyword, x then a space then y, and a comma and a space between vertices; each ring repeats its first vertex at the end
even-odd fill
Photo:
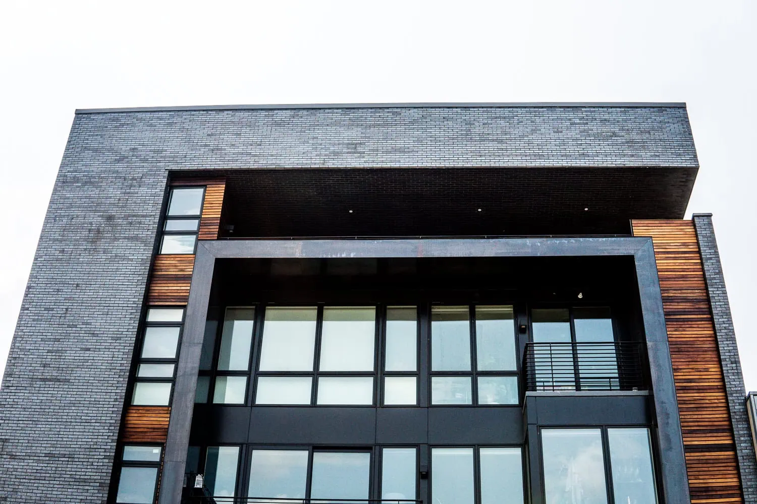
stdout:
POLYGON ((431 500, 439 504, 522 504, 521 449, 431 448, 431 500))

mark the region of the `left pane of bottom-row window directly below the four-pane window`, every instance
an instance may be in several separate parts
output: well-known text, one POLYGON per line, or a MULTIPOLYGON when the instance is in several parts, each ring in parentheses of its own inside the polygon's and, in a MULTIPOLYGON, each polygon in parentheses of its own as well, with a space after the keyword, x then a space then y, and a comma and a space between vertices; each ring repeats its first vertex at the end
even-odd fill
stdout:
POLYGON ((472 448, 431 448, 431 502, 473 504, 472 448))

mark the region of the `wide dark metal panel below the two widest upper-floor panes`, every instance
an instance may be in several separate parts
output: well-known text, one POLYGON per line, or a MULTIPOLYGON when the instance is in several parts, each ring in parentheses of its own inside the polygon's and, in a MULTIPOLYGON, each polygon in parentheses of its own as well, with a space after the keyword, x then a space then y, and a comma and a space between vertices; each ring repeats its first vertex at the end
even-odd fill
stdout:
POLYGON ((252 444, 375 444, 371 407, 254 407, 252 444))

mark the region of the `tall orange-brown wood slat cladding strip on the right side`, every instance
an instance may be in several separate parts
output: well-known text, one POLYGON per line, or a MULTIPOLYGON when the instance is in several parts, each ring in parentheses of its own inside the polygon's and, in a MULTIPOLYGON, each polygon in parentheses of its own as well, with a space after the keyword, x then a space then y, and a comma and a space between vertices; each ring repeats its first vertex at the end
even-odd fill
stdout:
POLYGON ((652 237, 693 504, 743 502, 718 341, 693 221, 632 221, 652 237))

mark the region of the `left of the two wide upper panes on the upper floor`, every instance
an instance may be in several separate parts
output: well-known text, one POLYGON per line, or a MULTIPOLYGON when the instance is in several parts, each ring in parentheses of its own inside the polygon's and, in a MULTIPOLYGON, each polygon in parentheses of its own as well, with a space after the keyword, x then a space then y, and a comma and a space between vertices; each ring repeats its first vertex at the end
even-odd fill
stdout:
POLYGON ((317 308, 266 308, 260 371, 312 371, 317 308))

